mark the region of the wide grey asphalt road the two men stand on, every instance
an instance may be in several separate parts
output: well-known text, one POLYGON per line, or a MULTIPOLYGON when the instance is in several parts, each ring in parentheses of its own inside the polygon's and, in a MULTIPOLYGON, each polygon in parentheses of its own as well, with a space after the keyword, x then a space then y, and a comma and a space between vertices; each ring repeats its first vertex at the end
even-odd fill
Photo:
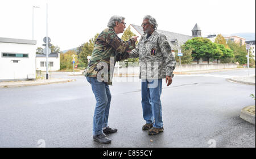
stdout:
POLYGON ((142 131, 141 82, 115 78, 109 126, 118 132, 108 135, 112 144, 98 144, 89 83, 83 76, 51 73, 76 81, 0 88, 0 147, 255 147, 255 125, 239 117, 243 107, 255 104, 255 86, 226 80, 246 75, 241 69, 175 76, 171 86, 163 85, 164 132, 156 136, 142 131))

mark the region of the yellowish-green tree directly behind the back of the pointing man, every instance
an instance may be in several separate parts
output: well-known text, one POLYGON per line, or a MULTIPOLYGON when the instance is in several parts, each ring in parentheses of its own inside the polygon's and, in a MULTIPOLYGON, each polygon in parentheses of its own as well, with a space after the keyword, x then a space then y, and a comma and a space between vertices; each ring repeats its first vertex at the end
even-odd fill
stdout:
POLYGON ((94 43, 98 37, 98 33, 89 40, 89 42, 86 42, 79 47, 77 47, 77 55, 79 56, 79 59, 81 62, 85 64, 85 66, 88 65, 87 56, 91 56, 94 48, 94 43))

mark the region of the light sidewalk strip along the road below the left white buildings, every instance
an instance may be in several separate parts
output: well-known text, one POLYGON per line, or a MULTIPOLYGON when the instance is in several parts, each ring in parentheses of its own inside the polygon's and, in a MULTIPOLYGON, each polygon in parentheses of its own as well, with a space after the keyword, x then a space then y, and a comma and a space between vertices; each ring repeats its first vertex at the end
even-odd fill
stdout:
POLYGON ((0 82, 1 87, 20 87, 20 86, 38 86, 38 85, 48 85, 51 83, 64 83, 64 82, 72 82, 76 80, 69 80, 64 78, 49 78, 46 79, 38 79, 31 81, 8 81, 8 82, 0 82))

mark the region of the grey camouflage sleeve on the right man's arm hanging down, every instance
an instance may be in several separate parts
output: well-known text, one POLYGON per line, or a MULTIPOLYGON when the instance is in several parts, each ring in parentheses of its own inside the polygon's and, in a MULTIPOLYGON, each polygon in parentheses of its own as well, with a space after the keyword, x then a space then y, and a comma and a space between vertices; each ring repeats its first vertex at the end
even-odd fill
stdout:
POLYGON ((174 58, 174 55, 172 54, 172 49, 170 44, 167 41, 166 36, 162 35, 160 36, 160 49, 163 53, 163 60, 166 67, 166 76, 172 77, 172 72, 174 72, 176 61, 174 58))

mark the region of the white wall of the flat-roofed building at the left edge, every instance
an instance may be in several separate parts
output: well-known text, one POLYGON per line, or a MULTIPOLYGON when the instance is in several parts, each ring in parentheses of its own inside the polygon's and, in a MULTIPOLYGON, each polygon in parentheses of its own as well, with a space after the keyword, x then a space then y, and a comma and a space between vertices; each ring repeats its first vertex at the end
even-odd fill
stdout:
POLYGON ((0 42, 0 80, 27 79, 28 74, 35 78, 35 52, 35 44, 0 42), (3 52, 26 53, 28 57, 2 57, 3 52), (18 60, 18 63, 14 63, 12 60, 18 60))

